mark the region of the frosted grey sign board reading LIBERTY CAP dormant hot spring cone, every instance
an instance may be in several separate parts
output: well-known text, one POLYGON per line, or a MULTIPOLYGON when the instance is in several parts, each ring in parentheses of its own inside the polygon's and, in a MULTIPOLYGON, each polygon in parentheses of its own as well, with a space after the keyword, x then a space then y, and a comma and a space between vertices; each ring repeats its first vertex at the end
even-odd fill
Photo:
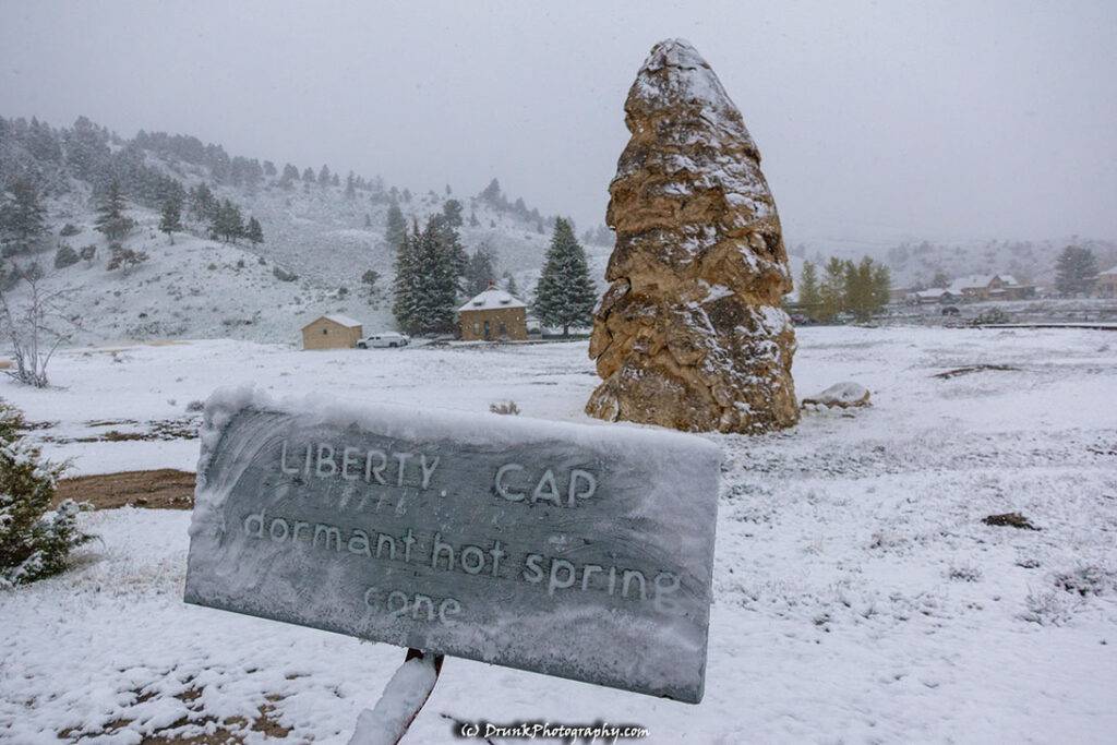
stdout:
POLYGON ((675 432, 219 391, 185 600, 697 703, 719 465, 675 432))

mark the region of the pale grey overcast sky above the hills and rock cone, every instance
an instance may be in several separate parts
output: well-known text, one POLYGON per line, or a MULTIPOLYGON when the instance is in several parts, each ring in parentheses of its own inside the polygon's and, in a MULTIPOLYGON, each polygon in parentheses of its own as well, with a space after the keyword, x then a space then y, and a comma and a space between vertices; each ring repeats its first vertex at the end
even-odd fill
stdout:
POLYGON ((764 157, 790 245, 1117 237, 1117 2, 0 0, 0 115, 330 164, 491 176, 603 220, 623 102, 690 40, 764 157))

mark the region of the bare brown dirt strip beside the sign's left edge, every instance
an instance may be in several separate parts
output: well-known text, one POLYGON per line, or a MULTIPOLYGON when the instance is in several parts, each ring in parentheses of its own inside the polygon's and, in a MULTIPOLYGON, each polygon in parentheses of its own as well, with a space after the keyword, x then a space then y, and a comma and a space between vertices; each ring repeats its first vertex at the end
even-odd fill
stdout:
POLYGON ((194 475, 173 468, 124 471, 64 478, 56 502, 88 502, 94 509, 132 505, 153 509, 190 509, 194 506, 194 475))

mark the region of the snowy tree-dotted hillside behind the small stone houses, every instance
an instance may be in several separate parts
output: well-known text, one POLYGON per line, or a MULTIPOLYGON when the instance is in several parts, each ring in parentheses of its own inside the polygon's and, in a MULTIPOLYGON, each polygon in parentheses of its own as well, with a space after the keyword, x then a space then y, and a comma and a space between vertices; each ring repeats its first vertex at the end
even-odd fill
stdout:
MULTIPOLYGON (((4 264, 9 270, 36 266, 48 289, 66 290, 75 343, 226 336, 295 342, 298 328, 323 313, 354 316, 369 331, 391 328, 392 204, 411 225, 456 199, 466 249, 489 251, 497 276, 512 274, 521 288, 534 286, 554 221, 507 198, 496 179, 471 197, 456 198, 449 185, 412 193, 379 176, 230 156, 188 135, 141 131, 125 140, 85 117, 59 128, 0 117, 0 184, 18 180, 41 195, 46 232, 26 245, 9 241, 4 264), (147 257, 128 269, 109 269, 109 241, 94 225, 113 182, 136 223, 122 248, 147 257), (189 209, 189 195, 200 185, 246 219, 256 218, 264 242, 213 239, 209 220, 189 209), (173 242, 159 232, 159 210, 169 198, 184 202, 183 231, 173 242), (55 266, 60 248, 87 246, 95 250, 92 260, 55 266), (373 292, 362 283, 369 269, 380 276, 373 292)), ((599 228, 585 238, 608 235, 599 228)), ((609 252, 588 249, 598 265, 609 252)))

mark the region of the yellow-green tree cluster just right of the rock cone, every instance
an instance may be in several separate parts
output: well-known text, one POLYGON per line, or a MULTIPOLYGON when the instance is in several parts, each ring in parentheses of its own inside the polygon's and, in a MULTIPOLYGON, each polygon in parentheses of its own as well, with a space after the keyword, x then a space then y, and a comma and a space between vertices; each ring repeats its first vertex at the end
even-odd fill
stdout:
POLYGON ((888 267, 868 256, 857 262, 831 257, 821 276, 813 261, 804 261, 798 307, 819 323, 833 321, 840 313, 863 323, 885 308, 890 288, 888 267))

